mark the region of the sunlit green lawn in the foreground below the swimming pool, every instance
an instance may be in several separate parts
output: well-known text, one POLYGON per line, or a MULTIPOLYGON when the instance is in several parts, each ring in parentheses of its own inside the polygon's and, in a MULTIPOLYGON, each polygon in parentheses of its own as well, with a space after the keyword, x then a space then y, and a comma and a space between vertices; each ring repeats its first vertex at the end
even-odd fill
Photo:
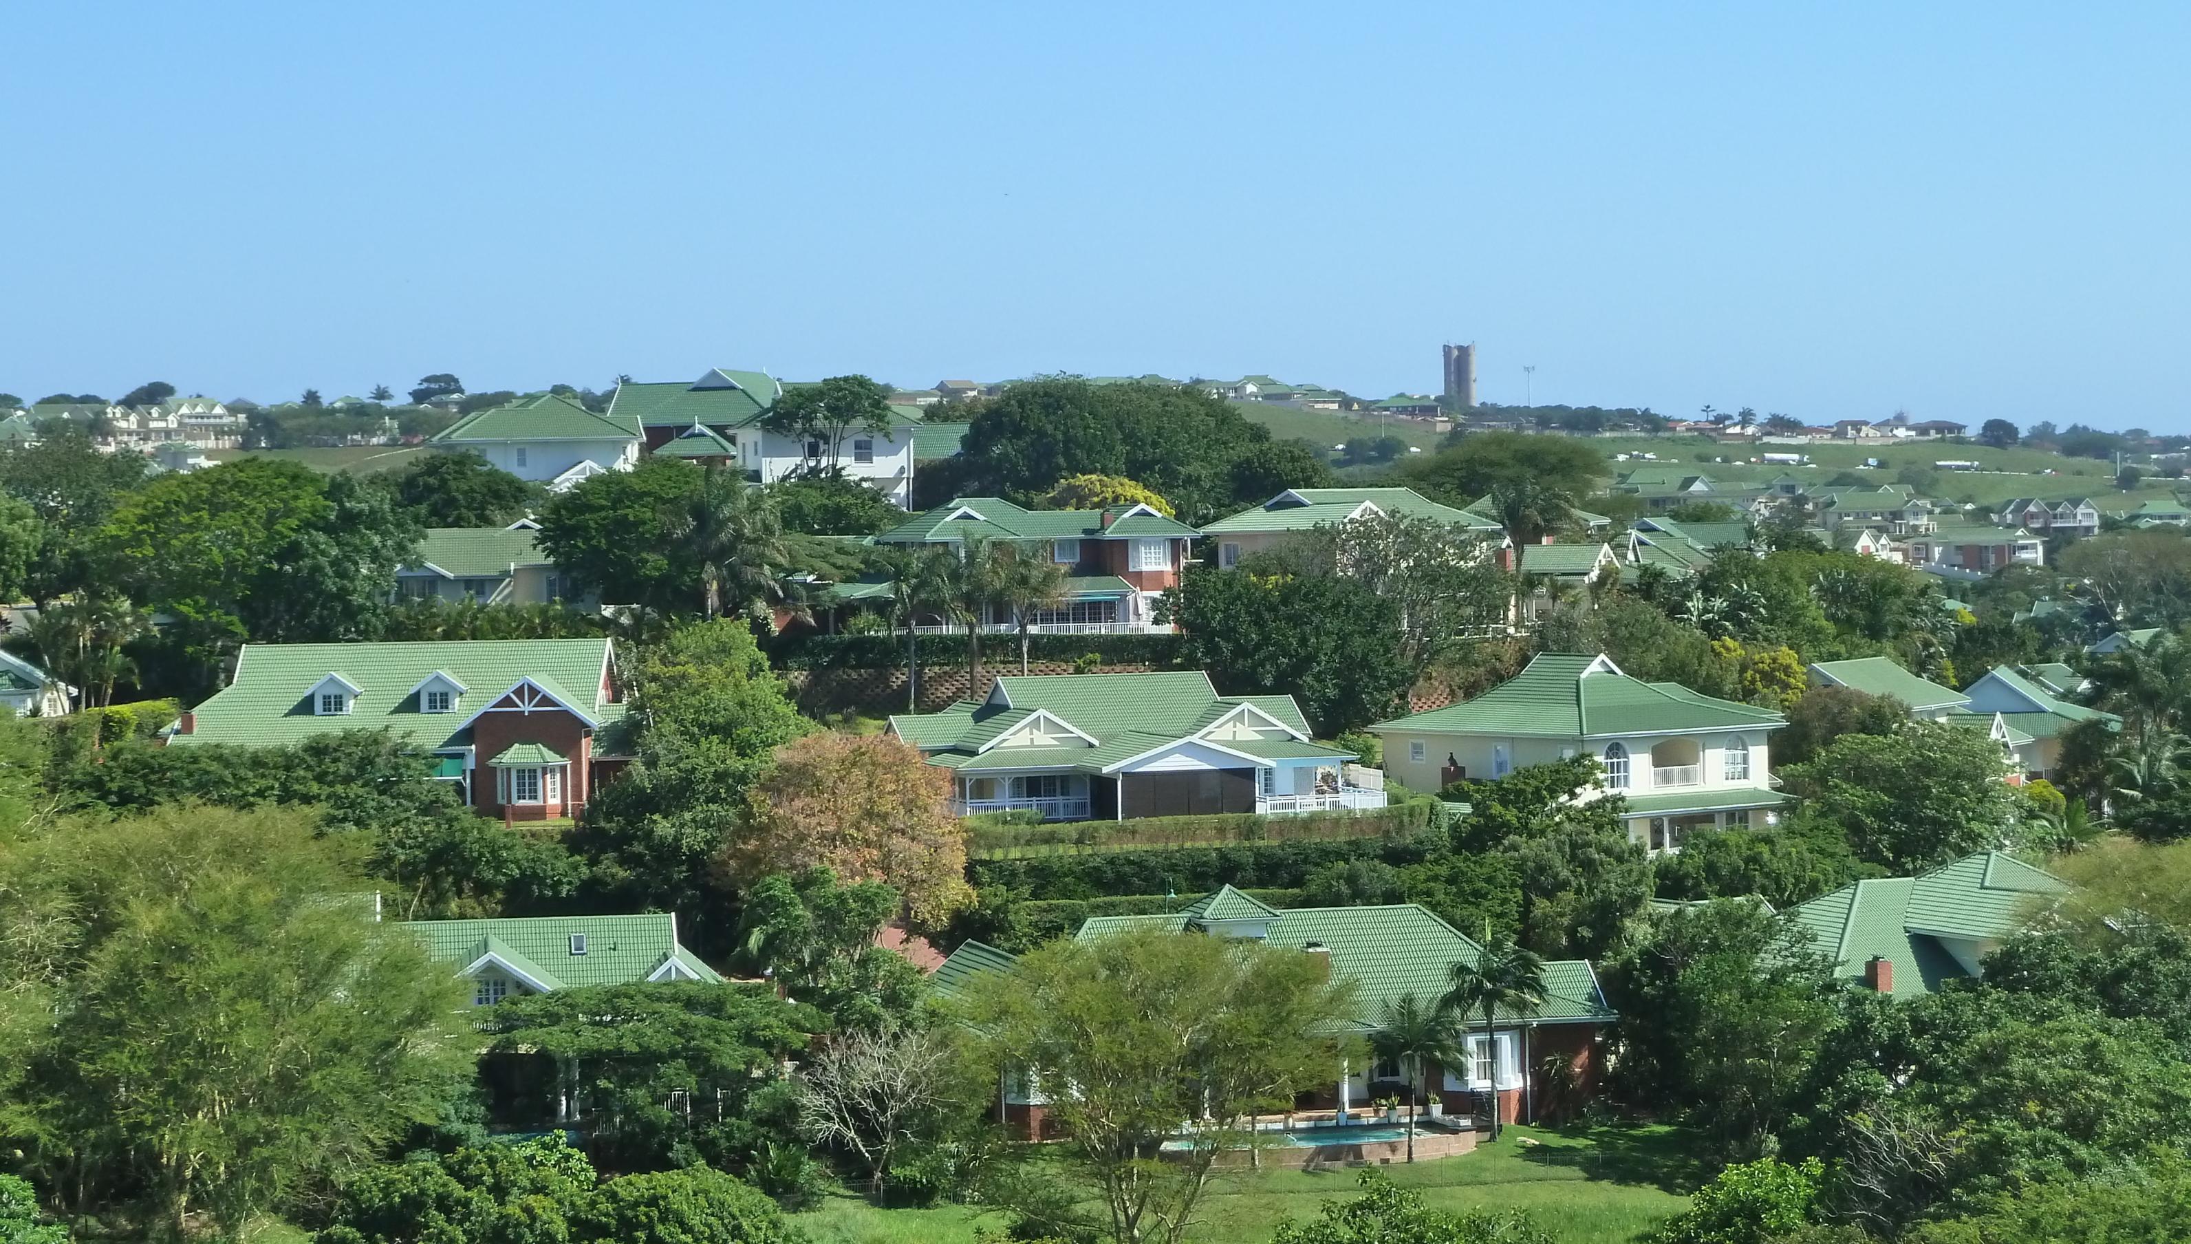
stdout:
MULTIPOLYGON (((1472 1154, 1383 1170, 1446 1209, 1525 1209, 1569 1244, 1637 1240, 1678 1211, 1680 1189, 1702 1176, 1689 1137, 1674 1128, 1507 1128, 1496 1145, 1472 1154)), ((1227 1176, 1212 1187, 1203 1226, 1190 1240, 1264 1244, 1282 1220, 1308 1218, 1326 1198, 1350 1196, 1354 1180, 1352 1170, 1227 1176)), ((874 1209, 852 1196, 830 1198, 798 1222, 815 1244, 973 1244, 977 1229, 1001 1226, 997 1216, 968 1209, 874 1209)))

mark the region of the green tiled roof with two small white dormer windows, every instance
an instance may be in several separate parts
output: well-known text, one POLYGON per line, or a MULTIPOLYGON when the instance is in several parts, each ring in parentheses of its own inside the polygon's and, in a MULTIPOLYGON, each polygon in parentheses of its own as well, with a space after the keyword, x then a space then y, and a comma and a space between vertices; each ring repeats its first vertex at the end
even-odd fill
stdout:
POLYGON ((607 729, 624 716, 624 705, 609 703, 598 690, 609 650, 609 640, 245 644, 237 655, 234 681, 197 705, 195 729, 175 734, 171 745, 269 747, 344 729, 390 729, 397 738, 427 749, 469 747, 467 718, 519 679, 532 679, 552 694, 567 696, 565 703, 607 729), (436 670, 467 688, 456 712, 418 712, 412 688, 436 670), (331 672, 359 688, 344 716, 318 716, 307 703, 311 688, 331 672))

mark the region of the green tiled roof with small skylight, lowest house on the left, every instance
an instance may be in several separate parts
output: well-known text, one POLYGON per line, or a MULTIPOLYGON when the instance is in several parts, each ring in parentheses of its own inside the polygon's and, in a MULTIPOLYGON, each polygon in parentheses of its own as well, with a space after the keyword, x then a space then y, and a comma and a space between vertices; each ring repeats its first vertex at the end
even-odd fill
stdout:
POLYGON ((467 968, 482 955, 495 953, 550 990, 629 986, 655 975, 668 959, 677 959, 701 981, 723 983, 714 968, 701 964, 677 942, 677 918, 668 911, 528 920, 412 920, 401 929, 416 935, 427 955, 443 964, 467 968), (585 955, 570 953, 574 933, 585 935, 585 955))

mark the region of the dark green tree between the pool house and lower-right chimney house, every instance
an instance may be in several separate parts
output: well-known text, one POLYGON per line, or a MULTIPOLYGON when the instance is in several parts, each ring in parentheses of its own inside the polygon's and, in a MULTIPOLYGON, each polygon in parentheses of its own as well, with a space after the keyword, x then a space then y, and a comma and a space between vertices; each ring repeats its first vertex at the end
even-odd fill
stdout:
POLYGON ((1762 902, 1652 913, 1604 966, 1621 1014, 1621 1093, 1687 1110, 1722 1152, 1753 1154, 1801 1106, 1810 1056, 1836 1018, 1832 979, 1832 953, 1762 902))

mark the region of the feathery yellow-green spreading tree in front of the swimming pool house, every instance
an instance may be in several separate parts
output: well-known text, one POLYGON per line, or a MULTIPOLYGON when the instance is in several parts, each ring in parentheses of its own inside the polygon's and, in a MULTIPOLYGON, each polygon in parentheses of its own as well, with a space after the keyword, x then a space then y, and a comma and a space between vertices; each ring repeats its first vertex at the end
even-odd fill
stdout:
POLYGON ((1253 1117, 1339 1069, 1352 997, 1299 951, 1135 929, 1041 946, 960 1005, 988 1078, 1049 1086, 1058 1156, 1109 1235, 1177 1244, 1253 1117))

